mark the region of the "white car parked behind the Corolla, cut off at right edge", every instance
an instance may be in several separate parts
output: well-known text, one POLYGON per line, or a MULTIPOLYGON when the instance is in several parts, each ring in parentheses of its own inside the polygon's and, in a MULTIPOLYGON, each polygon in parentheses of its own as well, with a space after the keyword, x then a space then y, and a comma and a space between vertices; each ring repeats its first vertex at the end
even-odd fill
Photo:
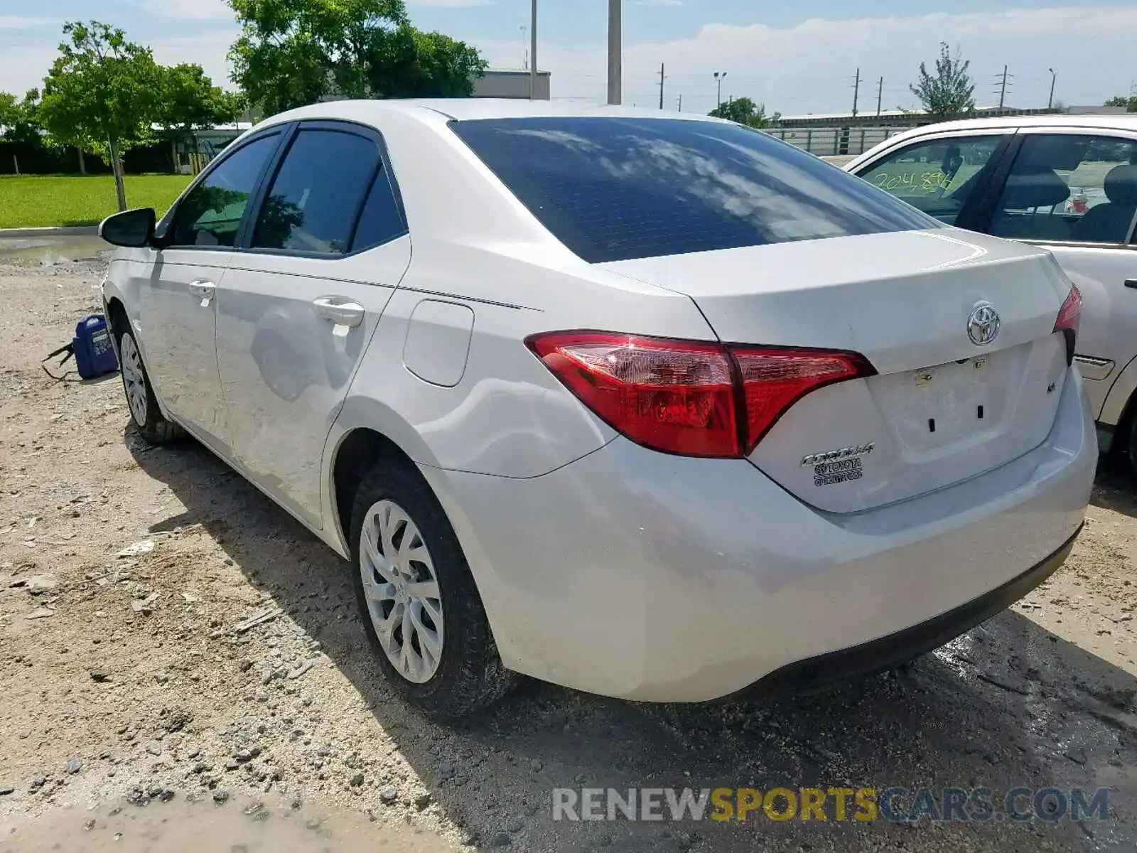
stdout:
POLYGON ((845 168, 945 223, 1054 254, 1085 299, 1074 358, 1101 447, 1137 474, 1137 115, 933 124, 845 168))

